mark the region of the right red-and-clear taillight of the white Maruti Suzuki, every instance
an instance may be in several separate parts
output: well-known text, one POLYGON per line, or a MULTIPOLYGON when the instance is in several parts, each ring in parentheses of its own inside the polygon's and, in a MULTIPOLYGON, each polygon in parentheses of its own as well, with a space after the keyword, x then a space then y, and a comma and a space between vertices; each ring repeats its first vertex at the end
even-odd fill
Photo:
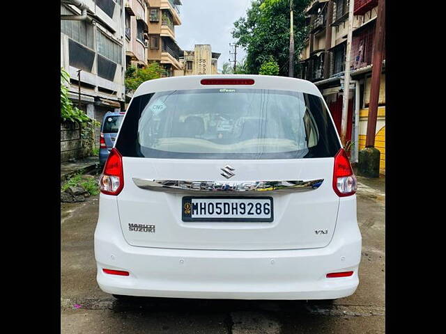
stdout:
POLYGON ((351 196, 357 189, 355 174, 343 148, 334 157, 333 189, 339 197, 351 196))

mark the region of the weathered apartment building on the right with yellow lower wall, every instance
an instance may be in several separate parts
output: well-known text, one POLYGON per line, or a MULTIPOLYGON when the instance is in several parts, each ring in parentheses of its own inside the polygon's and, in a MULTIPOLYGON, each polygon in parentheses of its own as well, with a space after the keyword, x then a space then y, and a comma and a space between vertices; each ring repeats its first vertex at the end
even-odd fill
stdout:
MULTIPOLYGON (((309 35, 300 56, 300 77, 313 81, 321 90, 341 131, 344 90, 348 6, 350 0, 314 0, 306 10, 309 35)), ((378 0, 351 0, 354 3, 351 45, 351 86, 348 87, 348 141, 351 158, 357 161, 365 147, 371 84, 371 59, 378 0)), ((375 145, 380 150, 380 173, 385 174, 385 62, 381 74, 375 145)))

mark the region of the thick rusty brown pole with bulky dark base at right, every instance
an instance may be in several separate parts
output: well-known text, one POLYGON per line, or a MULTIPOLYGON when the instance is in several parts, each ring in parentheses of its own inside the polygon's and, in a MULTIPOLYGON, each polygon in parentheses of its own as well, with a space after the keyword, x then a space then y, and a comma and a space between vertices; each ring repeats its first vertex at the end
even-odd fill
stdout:
POLYGON ((380 152, 375 148, 376 118, 378 116, 379 88, 383 67, 385 37, 385 0, 378 0, 378 16, 374 36, 374 54, 371 62, 371 86, 369 118, 367 119, 367 138, 365 148, 358 157, 358 173, 366 177, 379 177, 380 152))

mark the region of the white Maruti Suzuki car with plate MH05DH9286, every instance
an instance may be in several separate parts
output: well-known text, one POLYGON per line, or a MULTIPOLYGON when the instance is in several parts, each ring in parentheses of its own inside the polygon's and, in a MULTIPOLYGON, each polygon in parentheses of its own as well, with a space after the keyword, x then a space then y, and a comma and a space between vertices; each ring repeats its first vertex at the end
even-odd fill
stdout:
POLYGON ((311 300, 357 288, 356 179, 309 81, 141 84, 100 188, 97 280, 114 296, 311 300))

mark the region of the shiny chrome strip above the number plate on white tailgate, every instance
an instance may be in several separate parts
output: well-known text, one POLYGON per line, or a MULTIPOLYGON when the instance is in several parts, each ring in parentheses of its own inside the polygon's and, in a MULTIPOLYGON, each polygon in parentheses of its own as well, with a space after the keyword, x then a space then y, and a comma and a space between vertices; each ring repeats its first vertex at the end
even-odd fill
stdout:
POLYGON ((134 184, 141 189, 153 191, 166 191, 174 193, 223 193, 243 192, 262 193, 295 192, 318 189, 323 179, 319 180, 296 180, 296 181, 183 181, 183 180, 150 180, 132 178, 134 184))

